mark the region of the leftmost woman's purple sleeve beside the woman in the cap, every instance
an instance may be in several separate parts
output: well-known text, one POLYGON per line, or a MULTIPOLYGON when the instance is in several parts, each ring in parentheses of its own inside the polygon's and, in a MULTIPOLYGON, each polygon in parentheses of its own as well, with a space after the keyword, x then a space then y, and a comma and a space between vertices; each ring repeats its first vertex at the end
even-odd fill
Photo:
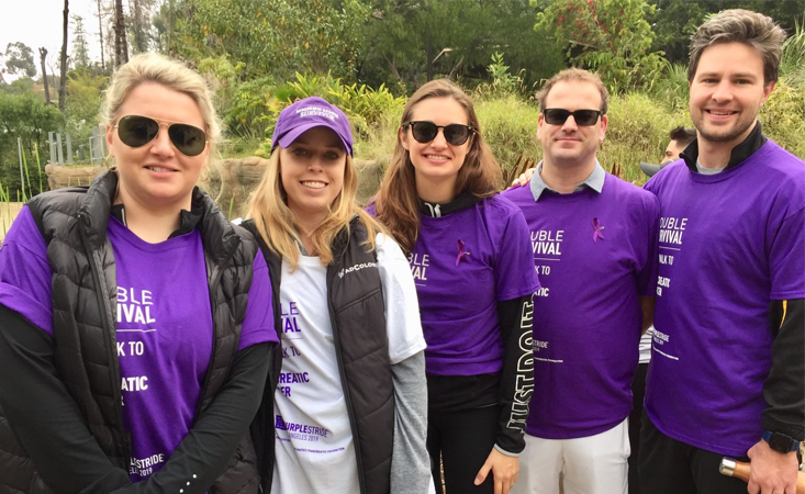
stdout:
POLYGON ((246 305, 246 315, 243 319, 238 350, 259 343, 279 341, 277 332, 273 328, 271 280, 268 278, 268 266, 262 254, 257 252, 251 266, 255 274, 249 289, 248 305, 246 305))

